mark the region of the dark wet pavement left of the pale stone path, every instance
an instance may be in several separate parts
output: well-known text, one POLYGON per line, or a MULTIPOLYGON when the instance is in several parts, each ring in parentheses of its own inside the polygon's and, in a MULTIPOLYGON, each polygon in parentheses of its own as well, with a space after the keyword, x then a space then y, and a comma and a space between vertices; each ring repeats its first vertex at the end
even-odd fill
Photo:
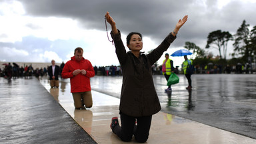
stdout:
POLYGON ((0 77, 0 143, 96 143, 33 79, 0 77))

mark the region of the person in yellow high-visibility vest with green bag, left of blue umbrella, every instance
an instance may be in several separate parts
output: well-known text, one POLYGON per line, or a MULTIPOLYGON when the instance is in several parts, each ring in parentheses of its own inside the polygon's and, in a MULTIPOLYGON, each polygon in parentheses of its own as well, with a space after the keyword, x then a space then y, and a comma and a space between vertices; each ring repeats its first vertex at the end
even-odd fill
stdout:
MULTIPOLYGON (((165 60, 163 61, 162 65, 162 72, 163 75, 165 75, 165 79, 168 81, 171 73, 173 73, 174 67, 173 67, 173 60, 169 59, 169 54, 165 53, 165 60)), ((171 85, 168 86, 165 91, 171 91, 171 85)))

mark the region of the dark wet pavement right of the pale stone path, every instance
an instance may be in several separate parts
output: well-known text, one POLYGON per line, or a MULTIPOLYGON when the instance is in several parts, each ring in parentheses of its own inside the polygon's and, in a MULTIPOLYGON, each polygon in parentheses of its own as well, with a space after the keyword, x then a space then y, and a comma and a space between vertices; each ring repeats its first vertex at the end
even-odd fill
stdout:
MULTIPOLYGON (((162 111, 256 139, 256 75, 192 75, 192 91, 187 79, 166 93, 165 77, 153 75, 162 111)), ((95 91, 120 97, 122 77, 96 76, 95 91)))

